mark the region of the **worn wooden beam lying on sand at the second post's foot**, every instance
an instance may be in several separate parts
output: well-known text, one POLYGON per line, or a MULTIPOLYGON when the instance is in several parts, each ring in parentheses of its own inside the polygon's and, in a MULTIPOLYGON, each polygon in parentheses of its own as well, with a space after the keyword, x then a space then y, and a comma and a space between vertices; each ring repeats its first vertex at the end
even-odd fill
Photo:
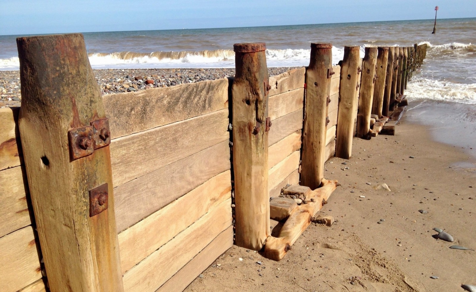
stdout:
POLYGON ((273 261, 282 260, 297 238, 309 226, 311 217, 322 209, 322 201, 327 201, 338 185, 337 181, 323 179, 322 187, 311 191, 306 196, 307 204, 301 204, 291 211, 288 220, 279 232, 279 237, 268 237, 263 255, 273 261))

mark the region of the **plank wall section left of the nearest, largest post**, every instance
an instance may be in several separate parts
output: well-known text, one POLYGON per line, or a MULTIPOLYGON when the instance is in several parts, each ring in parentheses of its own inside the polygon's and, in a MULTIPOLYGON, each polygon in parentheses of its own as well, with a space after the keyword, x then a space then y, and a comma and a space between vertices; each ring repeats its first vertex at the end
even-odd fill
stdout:
POLYGON ((19 108, 0 109, 0 291, 45 291, 22 171, 19 108), (21 162, 20 162, 21 161, 21 162))

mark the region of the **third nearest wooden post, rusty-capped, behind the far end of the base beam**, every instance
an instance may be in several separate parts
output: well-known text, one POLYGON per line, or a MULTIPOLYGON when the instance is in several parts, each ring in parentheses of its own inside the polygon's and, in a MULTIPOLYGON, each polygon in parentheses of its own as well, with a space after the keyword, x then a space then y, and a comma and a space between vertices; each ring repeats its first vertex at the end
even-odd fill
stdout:
POLYGON ((306 70, 306 114, 301 166, 301 185, 311 190, 317 189, 324 178, 331 72, 332 44, 311 43, 311 59, 306 70))

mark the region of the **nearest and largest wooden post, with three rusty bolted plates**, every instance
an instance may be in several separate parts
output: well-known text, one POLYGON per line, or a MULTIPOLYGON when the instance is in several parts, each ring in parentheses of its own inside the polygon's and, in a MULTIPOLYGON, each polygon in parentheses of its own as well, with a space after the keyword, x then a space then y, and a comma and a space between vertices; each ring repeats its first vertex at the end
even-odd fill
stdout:
POLYGON ((109 124, 83 36, 17 45, 21 144, 50 290, 123 291, 109 124))

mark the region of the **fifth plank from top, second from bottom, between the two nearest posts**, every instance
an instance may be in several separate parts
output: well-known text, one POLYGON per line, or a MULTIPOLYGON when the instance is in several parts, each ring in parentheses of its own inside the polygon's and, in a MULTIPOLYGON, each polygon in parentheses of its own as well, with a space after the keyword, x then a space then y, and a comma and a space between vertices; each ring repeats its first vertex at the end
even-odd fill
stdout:
POLYGON ((122 278, 124 291, 153 292, 231 225, 231 198, 164 244, 122 278))

